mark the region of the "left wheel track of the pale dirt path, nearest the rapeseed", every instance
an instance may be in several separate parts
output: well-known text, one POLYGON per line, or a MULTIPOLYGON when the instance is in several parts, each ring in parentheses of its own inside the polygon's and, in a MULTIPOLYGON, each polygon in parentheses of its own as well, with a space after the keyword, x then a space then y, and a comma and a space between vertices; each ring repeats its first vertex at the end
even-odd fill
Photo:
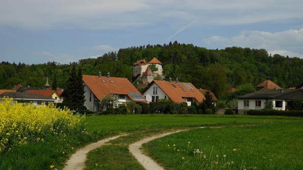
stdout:
POLYGON ((115 137, 106 138, 106 139, 100 140, 98 142, 89 144, 89 145, 85 146, 84 148, 79 149, 65 163, 65 167, 63 168, 63 170, 84 169, 85 161, 87 159, 87 153, 89 153, 91 150, 101 147, 106 142, 109 142, 111 140, 117 139, 117 138, 125 136, 125 135, 128 135, 128 134, 121 134, 121 135, 117 135, 115 137))

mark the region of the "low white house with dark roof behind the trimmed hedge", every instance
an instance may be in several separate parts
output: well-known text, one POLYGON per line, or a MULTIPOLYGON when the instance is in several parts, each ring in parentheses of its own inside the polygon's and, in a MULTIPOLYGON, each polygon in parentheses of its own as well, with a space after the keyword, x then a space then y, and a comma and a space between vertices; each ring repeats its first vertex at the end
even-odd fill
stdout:
POLYGON ((272 103, 273 109, 291 110, 293 100, 303 99, 303 89, 262 89, 237 97, 238 114, 247 114, 251 109, 264 109, 272 103))

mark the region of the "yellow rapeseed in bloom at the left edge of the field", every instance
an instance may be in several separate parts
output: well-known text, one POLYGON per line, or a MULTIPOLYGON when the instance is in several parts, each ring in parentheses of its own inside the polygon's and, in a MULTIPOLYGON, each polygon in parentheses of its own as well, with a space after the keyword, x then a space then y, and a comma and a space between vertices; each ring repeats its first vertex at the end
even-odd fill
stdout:
POLYGON ((0 98, 0 153, 28 142, 44 142, 46 135, 76 134, 84 119, 53 104, 36 107, 0 98))

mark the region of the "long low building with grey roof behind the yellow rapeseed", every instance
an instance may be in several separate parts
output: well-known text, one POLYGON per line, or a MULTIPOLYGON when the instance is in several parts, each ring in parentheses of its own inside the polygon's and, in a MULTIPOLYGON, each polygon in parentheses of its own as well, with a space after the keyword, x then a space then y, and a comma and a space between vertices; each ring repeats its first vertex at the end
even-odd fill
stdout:
POLYGON ((13 100, 16 100, 18 102, 32 103, 35 106, 40 106, 42 104, 47 104, 47 103, 55 103, 57 101, 56 99, 53 99, 48 96, 42 96, 36 93, 31 94, 24 92, 5 92, 0 95, 0 98, 3 97, 13 98, 13 100))

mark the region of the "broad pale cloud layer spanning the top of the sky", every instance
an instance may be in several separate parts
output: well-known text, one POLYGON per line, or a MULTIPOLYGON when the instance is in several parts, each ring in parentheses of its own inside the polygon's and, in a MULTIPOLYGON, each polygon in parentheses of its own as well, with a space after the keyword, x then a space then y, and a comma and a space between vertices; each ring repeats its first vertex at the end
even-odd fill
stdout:
POLYGON ((303 1, 210 0, 0 0, 0 25, 31 29, 112 29, 159 22, 237 25, 302 19, 303 1))

